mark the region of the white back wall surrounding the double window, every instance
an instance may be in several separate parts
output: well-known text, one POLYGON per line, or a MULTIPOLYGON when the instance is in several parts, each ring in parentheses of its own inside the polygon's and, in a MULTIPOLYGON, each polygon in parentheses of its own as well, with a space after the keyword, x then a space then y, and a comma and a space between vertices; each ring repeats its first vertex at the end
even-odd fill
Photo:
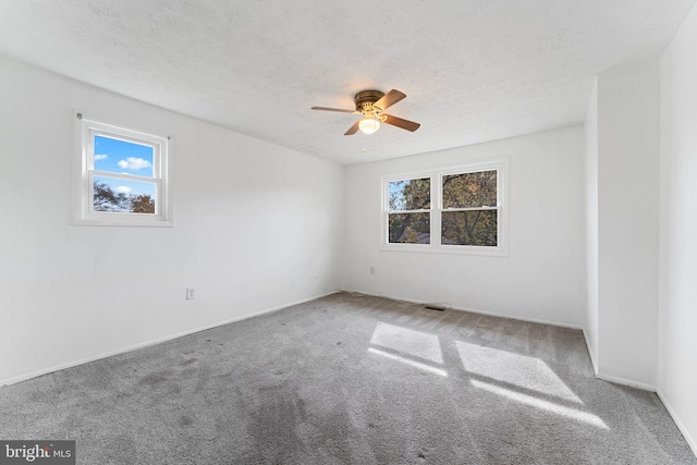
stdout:
POLYGON ((345 173, 345 289, 578 328, 585 323, 582 126, 350 166, 345 173), (504 155, 510 157, 508 257, 379 249, 382 175, 504 155))

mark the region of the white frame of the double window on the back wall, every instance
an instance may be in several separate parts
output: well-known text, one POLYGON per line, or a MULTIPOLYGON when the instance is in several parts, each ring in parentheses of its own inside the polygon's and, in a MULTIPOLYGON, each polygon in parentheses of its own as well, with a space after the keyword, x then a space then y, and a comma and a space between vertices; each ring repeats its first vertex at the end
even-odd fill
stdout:
MULTIPOLYGON (((419 252, 435 254, 465 254, 465 255, 509 255, 509 212, 508 212, 508 174, 509 158, 499 157, 472 163, 444 168, 432 171, 418 171, 381 178, 381 219, 380 219, 380 249, 394 252, 419 252), (445 175, 465 174, 479 171, 497 171, 497 207, 484 208, 452 208, 443 209, 442 180, 445 175), (389 242, 389 185, 390 182, 430 178, 431 208, 430 208, 430 244, 395 244, 389 242), (441 218, 443 211, 496 209, 497 215, 497 246, 476 245, 443 245, 441 244, 441 218)), ((420 211, 420 210, 419 210, 420 211)), ((426 210, 427 211, 427 210, 426 210)))

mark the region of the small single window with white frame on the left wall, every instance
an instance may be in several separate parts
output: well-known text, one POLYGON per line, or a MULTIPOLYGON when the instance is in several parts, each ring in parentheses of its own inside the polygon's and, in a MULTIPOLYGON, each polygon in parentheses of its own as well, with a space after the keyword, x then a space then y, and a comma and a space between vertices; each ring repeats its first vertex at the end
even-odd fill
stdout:
POLYGON ((171 227, 169 137, 75 117, 75 223, 171 227))

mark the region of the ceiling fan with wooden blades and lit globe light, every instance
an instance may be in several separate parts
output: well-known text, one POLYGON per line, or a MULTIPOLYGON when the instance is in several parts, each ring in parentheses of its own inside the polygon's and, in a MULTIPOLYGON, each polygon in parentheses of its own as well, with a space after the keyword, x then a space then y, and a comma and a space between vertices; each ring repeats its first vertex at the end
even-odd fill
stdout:
POLYGON ((363 90, 354 97, 354 101, 356 102, 355 111, 327 107, 313 107, 311 109, 362 114, 363 118, 356 121, 353 126, 344 133, 345 136, 353 135, 358 132, 358 130, 365 134, 372 134, 380 129, 380 123, 391 124, 393 126, 414 132, 420 126, 419 123, 383 113, 384 110, 402 100, 404 97, 406 97, 406 95, 395 89, 392 89, 387 94, 383 94, 380 90, 363 90))

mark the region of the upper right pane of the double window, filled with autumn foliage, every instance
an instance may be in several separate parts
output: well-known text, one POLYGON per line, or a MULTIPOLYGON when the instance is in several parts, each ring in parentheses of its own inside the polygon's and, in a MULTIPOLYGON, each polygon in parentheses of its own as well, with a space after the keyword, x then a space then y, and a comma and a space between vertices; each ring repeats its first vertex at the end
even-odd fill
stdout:
POLYGON ((443 208, 497 206, 497 171, 443 176, 443 208))

